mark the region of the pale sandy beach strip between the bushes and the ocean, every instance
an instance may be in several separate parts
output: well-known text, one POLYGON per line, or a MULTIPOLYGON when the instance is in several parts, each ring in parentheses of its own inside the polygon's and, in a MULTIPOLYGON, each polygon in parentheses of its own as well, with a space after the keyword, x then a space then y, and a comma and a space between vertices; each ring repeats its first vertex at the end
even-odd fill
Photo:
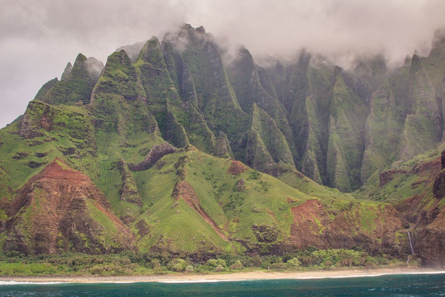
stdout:
POLYGON ((171 275, 128 275, 128 276, 1 276, 0 282, 13 283, 204 283, 241 280, 269 279, 320 279, 345 277, 371 277, 388 274, 445 274, 431 269, 370 269, 370 270, 319 270, 295 272, 249 271, 227 274, 171 274, 171 275))

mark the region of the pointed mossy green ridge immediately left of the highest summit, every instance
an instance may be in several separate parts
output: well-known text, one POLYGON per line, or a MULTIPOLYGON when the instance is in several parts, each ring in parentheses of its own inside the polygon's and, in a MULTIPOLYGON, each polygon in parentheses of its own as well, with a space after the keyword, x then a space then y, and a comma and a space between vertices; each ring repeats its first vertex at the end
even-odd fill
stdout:
POLYGON ((153 37, 145 43, 135 62, 148 96, 148 106, 159 123, 161 133, 177 147, 185 147, 190 142, 199 149, 213 153, 215 135, 207 126, 202 113, 195 108, 197 101, 193 81, 191 77, 185 78, 177 73, 179 68, 181 73, 185 71, 186 65, 178 62, 181 56, 168 43, 163 43, 162 48, 158 39, 153 37), (182 97, 177 88, 181 90, 182 97))

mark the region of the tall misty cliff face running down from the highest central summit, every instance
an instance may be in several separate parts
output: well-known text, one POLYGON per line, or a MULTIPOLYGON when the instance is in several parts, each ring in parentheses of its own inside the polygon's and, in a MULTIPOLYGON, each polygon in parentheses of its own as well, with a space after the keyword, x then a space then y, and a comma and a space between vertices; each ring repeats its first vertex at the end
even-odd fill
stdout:
MULTIPOLYGON (((194 98, 194 87, 196 101, 192 99, 191 105, 197 102, 193 107, 202 112, 213 134, 219 136, 223 132, 235 158, 245 160, 249 116, 240 107, 213 37, 202 27, 184 25, 178 32, 166 34, 162 43, 165 52, 171 54, 169 69, 176 68, 171 75, 176 77, 179 94, 190 100, 194 98)), ((198 134, 193 134, 193 138, 199 139, 198 134)), ((204 141, 208 142, 207 139, 204 141)))

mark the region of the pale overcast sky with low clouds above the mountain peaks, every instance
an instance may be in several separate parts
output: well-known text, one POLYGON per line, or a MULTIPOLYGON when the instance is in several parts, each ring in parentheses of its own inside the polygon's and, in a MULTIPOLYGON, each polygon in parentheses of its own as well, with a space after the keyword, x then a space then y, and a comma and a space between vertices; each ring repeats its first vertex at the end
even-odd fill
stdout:
POLYGON ((105 63, 184 22, 254 55, 305 47, 343 66, 356 53, 428 54, 444 13, 444 0, 0 0, 0 127, 79 52, 105 63))

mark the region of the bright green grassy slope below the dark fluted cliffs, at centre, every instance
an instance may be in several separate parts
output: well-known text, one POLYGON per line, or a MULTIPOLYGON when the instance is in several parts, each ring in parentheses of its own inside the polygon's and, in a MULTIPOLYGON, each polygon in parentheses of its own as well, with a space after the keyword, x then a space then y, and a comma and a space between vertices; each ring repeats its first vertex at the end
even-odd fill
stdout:
MULTIPOLYGON (((218 253, 241 252, 259 244, 253 225, 272 226, 277 234, 272 242, 284 242, 293 223, 290 208, 295 206, 288 198, 302 203, 314 196, 253 169, 239 175, 228 174, 231 162, 193 149, 167 155, 157 166, 136 173, 144 203, 151 205, 134 223, 136 234, 141 235, 139 247, 177 254, 202 254, 209 249, 218 253), (172 197, 172 189, 182 179, 193 188, 200 207, 223 237, 184 200, 172 197), (238 191, 241 179, 245 187, 238 191), (145 236, 142 229, 149 230, 145 236)), ((329 190, 320 189, 315 192, 330 196, 329 190)), ((338 191, 336 194, 342 196, 338 191)))

